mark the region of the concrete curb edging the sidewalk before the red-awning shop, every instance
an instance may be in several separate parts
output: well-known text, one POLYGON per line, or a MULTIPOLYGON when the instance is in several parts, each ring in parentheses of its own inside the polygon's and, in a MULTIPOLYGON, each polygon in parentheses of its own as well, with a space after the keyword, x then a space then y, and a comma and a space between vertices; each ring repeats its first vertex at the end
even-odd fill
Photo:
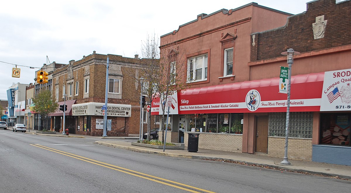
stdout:
POLYGON ((313 172, 313 171, 309 171, 309 170, 282 167, 282 166, 272 165, 272 164, 258 164, 258 163, 253 163, 253 162, 249 162, 249 161, 226 159, 226 158, 219 158, 219 157, 192 156, 192 155, 185 155, 185 154, 159 152, 159 151, 145 150, 145 149, 139 149, 136 147, 127 147, 127 146, 123 146, 123 145, 116 145, 116 144, 110 144, 110 143, 104 143, 104 142, 98 142, 98 141, 95 141, 94 143, 98 144, 98 145, 104 145, 104 146, 108 146, 108 147, 117 147, 119 149, 130 150, 130 151, 141 152, 141 153, 148 153, 148 154, 155 154, 155 155, 159 155, 159 156, 188 158, 188 159, 220 159, 220 160, 235 161, 235 162, 239 162, 239 163, 247 164, 247 165, 257 165, 257 166, 263 166, 263 167, 270 167, 270 168, 289 171, 289 172, 301 172, 301 173, 307 173, 307 174, 313 174, 313 175, 322 175, 322 176, 332 177, 332 178, 351 179, 351 176, 346 176, 346 175, 337 175, 337 174, 324 173, 324 172, 313 172))

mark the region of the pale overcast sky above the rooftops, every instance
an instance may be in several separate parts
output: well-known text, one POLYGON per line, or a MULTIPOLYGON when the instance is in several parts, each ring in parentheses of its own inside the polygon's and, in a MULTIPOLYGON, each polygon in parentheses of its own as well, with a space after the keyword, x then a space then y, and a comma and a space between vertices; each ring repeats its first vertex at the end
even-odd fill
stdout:
MULTIPOLYGON (((60 0, 2 1, 0 11, 0 99, 13 83, 34 83, 35 71, 50 62, 68 64, 84 55, 116 54, 141 57, 147 34, 158 37, 195 20, 201 13, 234 9, 248 0, 116 1, 60 0), (201 3, 201 4, 199 4, 201 3), (7 63, 11 64, 7 64, 7 63), (21 77, 12 77, 20 67, 21 77)), ((306 0, 256 0, 259 5, 299 14, 306 0)))

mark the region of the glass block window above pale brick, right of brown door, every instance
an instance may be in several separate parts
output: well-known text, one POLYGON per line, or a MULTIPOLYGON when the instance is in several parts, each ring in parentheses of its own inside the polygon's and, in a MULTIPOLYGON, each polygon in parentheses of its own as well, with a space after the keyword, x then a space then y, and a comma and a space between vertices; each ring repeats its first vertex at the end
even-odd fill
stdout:
MULTIPOLYGON (((290 112, 289 137, 312 138, 312 112, 290 112)), ((285 137, 286 112, 269 113, 268 136, 285 137)))

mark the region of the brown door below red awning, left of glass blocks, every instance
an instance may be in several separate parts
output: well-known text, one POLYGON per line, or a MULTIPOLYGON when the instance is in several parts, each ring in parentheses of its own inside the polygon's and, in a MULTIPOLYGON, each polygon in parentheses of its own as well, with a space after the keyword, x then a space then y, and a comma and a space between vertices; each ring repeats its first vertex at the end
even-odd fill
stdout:
POLYGON ((256 117, 256 152, 267 153, 268 116, 256 117))

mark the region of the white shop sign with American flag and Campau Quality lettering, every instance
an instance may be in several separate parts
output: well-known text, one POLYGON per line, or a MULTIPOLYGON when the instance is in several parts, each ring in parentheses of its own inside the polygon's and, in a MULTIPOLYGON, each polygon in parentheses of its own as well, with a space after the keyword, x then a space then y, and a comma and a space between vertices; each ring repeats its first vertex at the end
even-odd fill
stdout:
POLYGON ((351 110, 351 69, 324 73, 320 111, 351 110))

